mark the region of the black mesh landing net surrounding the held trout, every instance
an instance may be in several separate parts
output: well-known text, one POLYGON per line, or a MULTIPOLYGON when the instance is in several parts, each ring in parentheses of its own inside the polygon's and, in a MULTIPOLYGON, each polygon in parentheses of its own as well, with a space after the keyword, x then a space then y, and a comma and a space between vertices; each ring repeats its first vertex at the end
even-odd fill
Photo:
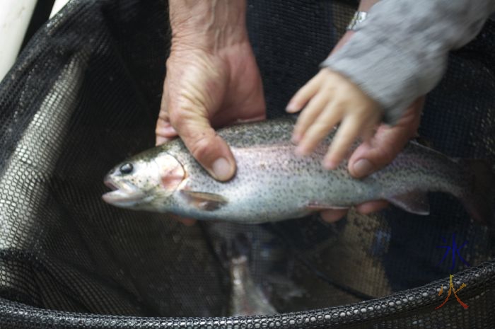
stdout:
MULTIPOLYGON (((249 1, 270 117, 354 5, 249 1)), ((429 217, 388 209, 336 224, 188 227, 105 204, 108 169, 153 145, 167 16, 163 1, 72 1, 1 82, 0 328, 495 328, 494 240, 446 195, 431 195, 429 217), (278 315, 228 318, 238 240, 278 315), (453 241, 462 259, 442 260, 453 241), (469 308, 450 296, 435 309, 449 275, 469 308)), ((436 149, 495 157, 494 68, 489 21, 427 98, 420 132, 436 149)))

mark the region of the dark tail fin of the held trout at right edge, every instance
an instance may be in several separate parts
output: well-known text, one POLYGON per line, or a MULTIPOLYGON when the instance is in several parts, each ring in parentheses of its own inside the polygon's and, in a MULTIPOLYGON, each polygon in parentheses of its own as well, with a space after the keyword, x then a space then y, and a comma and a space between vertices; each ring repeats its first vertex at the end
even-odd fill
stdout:
POLYGON ((459 163, 470 174, 470 188, 462 203, 471 217, 495 229, 495 162, 461 159, 459 163))

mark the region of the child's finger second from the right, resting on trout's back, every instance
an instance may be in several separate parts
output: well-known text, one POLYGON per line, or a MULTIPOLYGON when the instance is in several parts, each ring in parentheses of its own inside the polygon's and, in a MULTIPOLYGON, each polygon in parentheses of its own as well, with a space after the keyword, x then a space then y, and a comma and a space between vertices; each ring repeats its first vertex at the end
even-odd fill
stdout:
POLYGON ((313 125, 308 127, 308 130, 303 135, 301 142, 296 149, 297 154, 310 154, 320 144, 330 131, 339 121, 342 120, 342 115, 339 110, 334 108, 334 104, 327 105, 320 116, 316 118, 313 125))

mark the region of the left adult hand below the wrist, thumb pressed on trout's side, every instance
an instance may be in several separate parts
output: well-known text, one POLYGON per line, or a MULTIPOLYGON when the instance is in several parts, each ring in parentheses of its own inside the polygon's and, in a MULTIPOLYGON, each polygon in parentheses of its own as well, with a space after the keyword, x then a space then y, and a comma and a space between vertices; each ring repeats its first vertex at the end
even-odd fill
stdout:
POLYGON ((156 144, 178 134, 206 171, 228 180, 235 160, 213 127, 264 117, 260 73, 247 41, 214 53, 179 46, 170 53, 156 144))

